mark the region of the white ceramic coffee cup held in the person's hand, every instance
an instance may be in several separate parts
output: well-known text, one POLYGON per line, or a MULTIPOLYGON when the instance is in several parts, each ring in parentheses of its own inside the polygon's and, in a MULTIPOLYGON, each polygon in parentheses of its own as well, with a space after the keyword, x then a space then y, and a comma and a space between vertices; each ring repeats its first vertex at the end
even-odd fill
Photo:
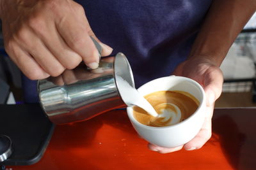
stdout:
POLYGON ((198 101, 198 109, 186 120, 165 127, 150 127, 143 125, 133 117, 133 106, 127 107, 128 117, 138 134, 149 143, 172 148, 188 143, 200 131, 205 119, 205 93, 196 81, 182 76, 166 76, 149 81, 138 91, 143 96, 163 90, 180 90, 193 95, 198 101))

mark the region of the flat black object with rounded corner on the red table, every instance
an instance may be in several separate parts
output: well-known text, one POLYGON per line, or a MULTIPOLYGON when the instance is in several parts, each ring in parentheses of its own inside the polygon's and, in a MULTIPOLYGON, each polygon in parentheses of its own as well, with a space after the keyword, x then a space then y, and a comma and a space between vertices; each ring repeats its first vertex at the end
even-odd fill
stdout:
POLYGON ((2 165, 38 162, 49 144, 54 125, 39 104, 0 104, 0 134, 12 140, 12 155, 2 165))

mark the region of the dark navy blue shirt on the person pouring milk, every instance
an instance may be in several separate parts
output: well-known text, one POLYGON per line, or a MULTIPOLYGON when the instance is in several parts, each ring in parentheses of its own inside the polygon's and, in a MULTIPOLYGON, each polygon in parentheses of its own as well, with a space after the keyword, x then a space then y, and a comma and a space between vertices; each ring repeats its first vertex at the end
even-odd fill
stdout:
MULTIPOLYGON (((168 76, 188 57, 211 0, 93 0, 83 5, 93 32, 103 43, 123 52, 136 88, 168 76)), ((36 82, 23 76, 26 102, 36 102, 36 82)))

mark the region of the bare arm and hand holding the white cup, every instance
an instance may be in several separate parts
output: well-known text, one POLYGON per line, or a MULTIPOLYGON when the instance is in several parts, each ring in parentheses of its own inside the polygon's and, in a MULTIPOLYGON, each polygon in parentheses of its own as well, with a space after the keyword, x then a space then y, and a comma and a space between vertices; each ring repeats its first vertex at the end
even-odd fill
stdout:
POLYGON ((201 148, 211 138, 211 118, 214 102, 220 97, 223 75, 220 64, 228 49, 256 10, 255 0, 214 0, 205 22, 196 38, 191 54, 173 72, 198 81, 204 87, 206 109, 200 132, 184 146, 163 148, 149 144, 148 148, 160 153, 201 148))

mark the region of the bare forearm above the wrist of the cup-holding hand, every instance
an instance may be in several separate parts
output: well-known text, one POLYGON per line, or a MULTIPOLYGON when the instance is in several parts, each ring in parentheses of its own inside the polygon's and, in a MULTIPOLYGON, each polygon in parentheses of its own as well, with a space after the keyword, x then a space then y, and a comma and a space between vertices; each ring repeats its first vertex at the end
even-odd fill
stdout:
POLYGON ((205 57, 220 66, 255 10, 255 0, 212 1, 189 57, 205 57))

